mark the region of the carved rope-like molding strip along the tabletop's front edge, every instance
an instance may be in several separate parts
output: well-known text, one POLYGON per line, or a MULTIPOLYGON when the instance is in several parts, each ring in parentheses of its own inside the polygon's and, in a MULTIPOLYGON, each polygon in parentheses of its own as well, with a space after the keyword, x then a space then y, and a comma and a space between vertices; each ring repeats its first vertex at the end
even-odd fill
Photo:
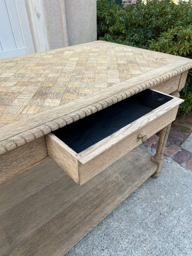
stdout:
POLYGON ((128 97, 131 97, 136 93, 140 93, 143 90, 152 88, 157 84, 167 81, 172 77, 177 76, 186 70, 189 70, 190 68, 192 68, 192 64, 186 64, 171 72, 157 76, 155 79, 151 79, 142 84, 136 85, 131 89, 115 94, 107 99, 95 102, 92 105, 89 105, 86 108, 82 108, 79 111, 69 113, 65 116, 60 116, 50 122, 47 122, 44 125, 39 125, 38 127, 32 128, 28 131, 21 132, 20 134, 11 137, 9 140, 2 140, 0 142, 0 154, 4 154, 7 151, 17 148, 18 146, 24 145, 32 140, 38 139, 39 137, 49 134, 50 132, 55 131, 58 128, 62 128, 66 125, 69 125, 72 122, 76 122, 79 119, 84 118, 85 116, 89 116, 93 113, 96 113, 97 111, 107 108, 128 97))

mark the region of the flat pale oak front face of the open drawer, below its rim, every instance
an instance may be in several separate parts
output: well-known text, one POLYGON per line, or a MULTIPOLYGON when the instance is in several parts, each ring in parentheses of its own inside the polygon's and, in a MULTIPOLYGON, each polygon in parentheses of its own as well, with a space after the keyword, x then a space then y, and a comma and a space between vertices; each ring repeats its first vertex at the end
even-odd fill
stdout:
MULTIPOLYGON (((125 138, 111 147, 109 146, 108 149, 101 154, 98 154, 96 157, 93 157, 91 160, 86 161, 86 158, 82 159, 83 164, 81 163, 79 166, 79 183, 83 184, 87 180, 90 180, 120 157, 123 157, 133 148, 140 145, 142 140, 137 138, 139 134, 147 135, 148 138, 151 137, 166 125, 173 122, 176 114, 177 109, 170 110, 169 112, 160 116, 158 119, 154 119, 151 122, 148 122, 146 125, 141 126, 136 131, 133 131, 131 134, 127 135, 125 138)), ((92 154, 95 153, 92 152, 92 154)))

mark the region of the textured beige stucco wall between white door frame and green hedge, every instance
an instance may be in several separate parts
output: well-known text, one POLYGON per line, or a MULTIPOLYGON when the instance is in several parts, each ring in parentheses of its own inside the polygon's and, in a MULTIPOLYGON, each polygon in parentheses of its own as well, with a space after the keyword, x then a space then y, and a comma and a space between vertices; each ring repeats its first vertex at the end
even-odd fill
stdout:
POLYGON ((96 0, 42 0, 49 49, 96 40, 96 0))

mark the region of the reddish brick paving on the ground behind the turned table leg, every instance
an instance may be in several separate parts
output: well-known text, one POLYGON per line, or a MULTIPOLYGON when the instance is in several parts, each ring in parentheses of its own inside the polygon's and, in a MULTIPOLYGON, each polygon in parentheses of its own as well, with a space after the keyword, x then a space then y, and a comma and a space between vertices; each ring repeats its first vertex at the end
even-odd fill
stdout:
MULTIPOLYGON (((192 114, 189 116, 177 116, 177 119, 172 123, 164 154, 166 157, 170 157, 180 165, 192 170, 192 146, 190 151, 182 148, 183 142, 191 132, 192 114)), ((159 133, 151 136, 145 142, 145 145, 157 149, 158 136, 159 133)))

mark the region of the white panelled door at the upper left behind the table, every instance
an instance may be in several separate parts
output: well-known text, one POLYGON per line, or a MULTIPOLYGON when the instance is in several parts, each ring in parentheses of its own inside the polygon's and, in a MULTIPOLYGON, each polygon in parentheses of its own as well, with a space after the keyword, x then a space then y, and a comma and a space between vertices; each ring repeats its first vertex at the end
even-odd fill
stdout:
POLYGON ((0 59, 33 53, 24 0, 0 0, 0 59))

